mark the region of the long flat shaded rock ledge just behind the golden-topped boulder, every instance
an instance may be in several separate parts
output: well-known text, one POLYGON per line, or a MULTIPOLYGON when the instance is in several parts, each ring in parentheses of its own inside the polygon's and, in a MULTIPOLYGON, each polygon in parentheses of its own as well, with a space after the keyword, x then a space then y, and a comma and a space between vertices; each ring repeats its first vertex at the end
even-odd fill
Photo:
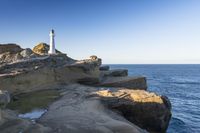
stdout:
POLYGON ((104 77, 98 86, 125 87, 129 89, 147 89, 145 77, 104 77))

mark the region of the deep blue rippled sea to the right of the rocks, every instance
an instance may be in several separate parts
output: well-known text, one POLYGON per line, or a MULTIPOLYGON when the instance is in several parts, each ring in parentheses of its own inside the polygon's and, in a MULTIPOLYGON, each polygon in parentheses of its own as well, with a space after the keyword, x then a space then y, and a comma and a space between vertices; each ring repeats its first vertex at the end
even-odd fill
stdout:
POLYGON ((110 65, 147 77, 148 90, 167 96, 172 119, 167 133, 200 133, 200 65, 110 65))

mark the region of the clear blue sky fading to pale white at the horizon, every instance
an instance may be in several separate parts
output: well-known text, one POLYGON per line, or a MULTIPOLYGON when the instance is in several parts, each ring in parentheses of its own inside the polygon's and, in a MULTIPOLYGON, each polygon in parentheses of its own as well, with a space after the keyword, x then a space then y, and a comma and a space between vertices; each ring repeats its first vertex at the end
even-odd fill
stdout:
POLYGON ((200 63, 200 0, 0 0, 0 43, 103 63, 200 63))

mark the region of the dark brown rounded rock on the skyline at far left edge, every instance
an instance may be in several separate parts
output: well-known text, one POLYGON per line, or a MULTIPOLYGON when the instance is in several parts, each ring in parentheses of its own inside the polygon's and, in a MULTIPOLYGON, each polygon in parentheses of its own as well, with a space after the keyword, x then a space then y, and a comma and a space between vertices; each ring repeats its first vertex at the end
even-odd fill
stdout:
POLYGON ((0 54, 9 52, 9 53, 18 53, 23 49, 17 44, 0 44, 0 54))

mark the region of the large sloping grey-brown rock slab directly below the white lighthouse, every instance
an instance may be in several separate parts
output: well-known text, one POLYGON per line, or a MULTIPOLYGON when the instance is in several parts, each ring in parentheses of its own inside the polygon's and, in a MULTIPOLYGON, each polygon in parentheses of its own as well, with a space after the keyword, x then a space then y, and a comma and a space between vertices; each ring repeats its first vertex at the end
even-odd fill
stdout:
POLYGON ((99 79, 101 60, 76 61, 64 54, 49 55, 0 67, 0 86, 10 93, 48 89, 84 79, 99 79))

